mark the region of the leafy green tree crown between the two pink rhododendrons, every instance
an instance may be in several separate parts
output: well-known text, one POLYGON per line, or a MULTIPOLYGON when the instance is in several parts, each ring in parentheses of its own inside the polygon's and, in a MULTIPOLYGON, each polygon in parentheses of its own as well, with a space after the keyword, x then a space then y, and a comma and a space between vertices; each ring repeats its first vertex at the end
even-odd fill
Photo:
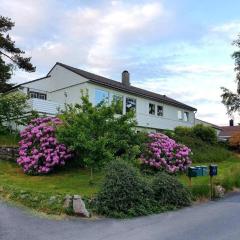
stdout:
POLYGON ((82 104, 66 106, 57 136, 75 152, 79 165, 98 168, 117 156, 132 159, 140 154, 144 136, 134 129, 134 113, 115 112, 115 104, 93 106, 88 96, 82 96, 82 104))

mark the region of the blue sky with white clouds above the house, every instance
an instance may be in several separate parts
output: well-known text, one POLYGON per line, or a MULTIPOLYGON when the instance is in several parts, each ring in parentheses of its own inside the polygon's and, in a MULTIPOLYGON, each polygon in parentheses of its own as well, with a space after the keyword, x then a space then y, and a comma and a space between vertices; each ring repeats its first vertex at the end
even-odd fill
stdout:
POLYGON ((1 0, 0 12, 16 22, 11 35, 37 67, 17 71, 15 83, 46 75, 57 61, 115 80, 127 69, 132 85, 226 125, 220 87, 235 89, 231 43, 240 33, 239 8, 239 1, 223 0, 1 0))

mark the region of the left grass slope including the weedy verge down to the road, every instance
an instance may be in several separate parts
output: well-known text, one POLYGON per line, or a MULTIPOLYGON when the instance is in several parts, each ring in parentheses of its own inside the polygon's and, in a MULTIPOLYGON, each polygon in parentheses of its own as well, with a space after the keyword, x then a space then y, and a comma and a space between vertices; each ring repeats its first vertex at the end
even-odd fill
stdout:
POLYGON ((90 171, 62 170, 48 176, 28 176, 15 163, 0 160, 0 197, 20 203, 47 214, 61 215, 64 198, 80 195, 88 199, 98 191, 103 175, 94 173, 90 184, 90 171))

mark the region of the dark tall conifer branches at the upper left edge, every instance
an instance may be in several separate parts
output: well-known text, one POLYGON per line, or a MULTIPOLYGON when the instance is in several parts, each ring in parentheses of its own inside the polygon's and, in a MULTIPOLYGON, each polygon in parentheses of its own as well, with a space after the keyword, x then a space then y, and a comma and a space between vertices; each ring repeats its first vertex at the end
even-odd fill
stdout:
POLYGON ((0 92, 4 92, 11 84, 7 83, 11 78, 13 70, 23 69, 27 72, 34 72, 35 67, 31 64, 30 57, 24 57, 24 51, 15 46, 8 31, 14 27, 10 18, 0 16, 0 92))

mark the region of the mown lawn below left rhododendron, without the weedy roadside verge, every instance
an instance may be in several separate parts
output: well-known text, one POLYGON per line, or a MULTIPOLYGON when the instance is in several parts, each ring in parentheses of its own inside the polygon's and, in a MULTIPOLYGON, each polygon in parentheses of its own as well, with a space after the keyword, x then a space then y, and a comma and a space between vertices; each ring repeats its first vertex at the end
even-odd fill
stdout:
POLYGON ((28 176, 17 164, 0 160, 0 186, 14 186, 24 191, 90 197, 98 190, 101 179, 102 174, 94 173, 94 183, 90 184, 90 172, 79 169, 62 170, 48 176, 28 176))

